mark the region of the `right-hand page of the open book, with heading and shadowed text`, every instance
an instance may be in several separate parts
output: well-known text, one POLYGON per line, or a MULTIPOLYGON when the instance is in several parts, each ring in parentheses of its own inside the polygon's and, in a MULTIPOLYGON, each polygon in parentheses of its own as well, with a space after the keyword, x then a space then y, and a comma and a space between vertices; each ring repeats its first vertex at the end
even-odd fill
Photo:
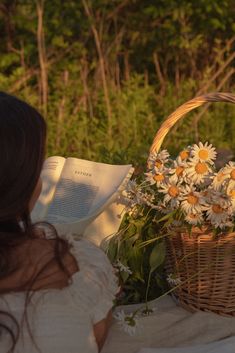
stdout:
POLYGON ((87 225, 113 200, 130 170, 131 165, 68 158, 46 220, 53 224, 87 225))

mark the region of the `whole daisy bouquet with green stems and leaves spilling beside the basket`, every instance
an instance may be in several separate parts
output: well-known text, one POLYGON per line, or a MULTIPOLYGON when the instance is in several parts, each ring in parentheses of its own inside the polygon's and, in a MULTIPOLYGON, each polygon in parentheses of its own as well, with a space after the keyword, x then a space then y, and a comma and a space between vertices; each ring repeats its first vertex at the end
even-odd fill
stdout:
MULTIPOLYGON (((188 146, 174 159, 167 150, 152 153, 144 177, 127 185, 125 222, 109 243, 108 251, 121 278, 123 292, 119 304, 145 302, 148 311, 148 300, 184 285, 184 267, 183 281, 174 268, 164 272, 167 253, 164 240, 171 235, 171 230, 174 233, 175 227, 190 231, 194 226, 206 226, 215 234, 233 231, 235 163, 229 162, 217 170, 216 157, 215 148, 208 142, 188 146)), ((193 250, 189 252, 193 257, 193 250)), ((179 261, 181 254, 177 252, 179 261)), ((185 261, 190 262, 190 256, 185 261)), ((189 267, 194 278, 197 269, 194 273, 194 267, 189 267)), ((136 313, 131 318, 136 319, 136 313)))

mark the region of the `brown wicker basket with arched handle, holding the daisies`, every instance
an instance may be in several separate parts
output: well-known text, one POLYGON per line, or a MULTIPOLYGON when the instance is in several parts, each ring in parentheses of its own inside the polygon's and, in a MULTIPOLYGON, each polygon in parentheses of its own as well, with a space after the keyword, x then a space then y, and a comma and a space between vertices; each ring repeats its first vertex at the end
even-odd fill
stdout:
MULTIPOLYGON (((157 132, 150 153, 158 152, 171 127, 187 112, 208 102, 235 103, 230 93, 210 93, 196 97, 173 112, 157 132)), ((212 311, 235 316, 235 233, 215 239, 210 229, 175 229, 167 237, 166 271, 181 284, 174 294, 190 311, 212 311)))

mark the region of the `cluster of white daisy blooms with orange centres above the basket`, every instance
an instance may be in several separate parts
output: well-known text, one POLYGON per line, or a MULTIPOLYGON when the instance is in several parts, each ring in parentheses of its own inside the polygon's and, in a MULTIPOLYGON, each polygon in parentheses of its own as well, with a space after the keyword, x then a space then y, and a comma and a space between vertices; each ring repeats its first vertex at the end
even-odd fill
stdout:
POLYGON ((170 214, 175 225, 233 228, 235 163, 217 171, 216 156, 208 142, 188 146, 175 159, 167 150, 151 154, 145 180, 139 185, 132 182, 127 189, 129 212, 137 215, 139 206, 147 205, 170 214))

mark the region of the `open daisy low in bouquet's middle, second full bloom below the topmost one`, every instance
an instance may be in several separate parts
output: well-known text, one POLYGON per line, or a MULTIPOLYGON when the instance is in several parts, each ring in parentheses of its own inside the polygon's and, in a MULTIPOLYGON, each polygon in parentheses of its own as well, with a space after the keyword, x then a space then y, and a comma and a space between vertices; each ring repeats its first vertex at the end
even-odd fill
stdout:
POLYGON ((201 213, 203 211, 204 198, 195 190, 193 185, 186 185, 181 194, 181 208, 188 213, 201 213))

